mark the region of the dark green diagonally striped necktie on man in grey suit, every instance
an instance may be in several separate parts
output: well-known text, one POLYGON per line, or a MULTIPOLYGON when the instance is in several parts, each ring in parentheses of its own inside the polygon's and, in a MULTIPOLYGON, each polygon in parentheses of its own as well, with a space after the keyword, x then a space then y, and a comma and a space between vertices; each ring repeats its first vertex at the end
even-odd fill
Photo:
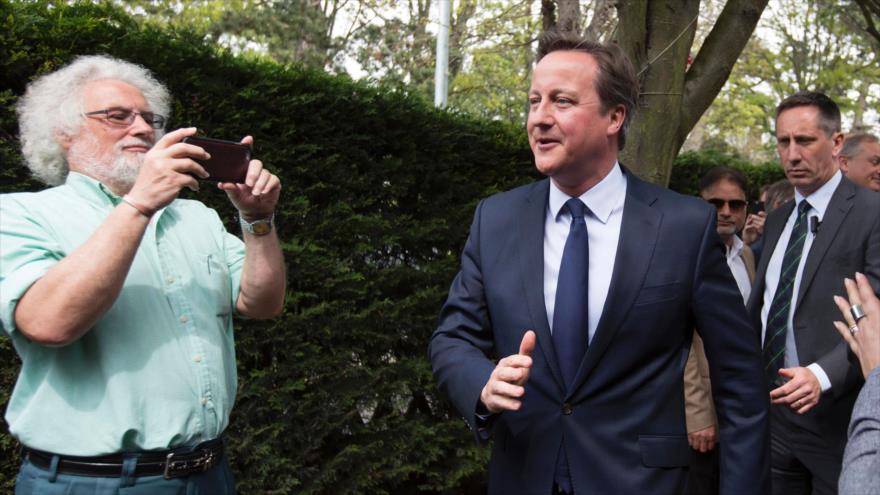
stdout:
POLYGON ((810 204, 801 200, 798 205, 798 216, 788 238, 788 246, 782 256, 782 269, 779 272, 779 284, 773 294, 770 312, 767 313, 767 330, 764 332, 764 372, 767 384, 771 389, 782 385, 779 368, 785 358, 785 334, 788 329, 788 314, 791 308, 791 297, 794 293, 794 277, 804 251, 807 238, 807 212, 810 204))

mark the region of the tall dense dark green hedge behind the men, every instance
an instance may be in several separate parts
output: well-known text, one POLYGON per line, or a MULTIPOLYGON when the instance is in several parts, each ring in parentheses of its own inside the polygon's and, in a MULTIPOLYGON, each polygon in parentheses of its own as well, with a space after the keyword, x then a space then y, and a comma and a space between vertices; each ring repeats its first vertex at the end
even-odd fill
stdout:
MULTIPOLYGON (((234 57, 109 5, 0 0, 0 192, 43 187, 17 140, 26 84, 90 53, 152 69, 176 95, 172 126, 253 134, 256 156, 284 185, 285 311, 236 329, 227 436, 239 491, 484 492, 488 450, 436 393, 426 348, 474 205, 537 177, 522 129, 434 110, 400 86, 234 57)), ((715 164, 755 184, 781 177, 778 167, 690 153, 672 187, 694 193, 715 164)), ((231 206, 205 189, 199 199, 237 232, 231 206)), ((4 410, 18 367, 0 338, 4 410)), ((11 491, 17 446, 5 422, 0 430, 0 490, 11 491)))

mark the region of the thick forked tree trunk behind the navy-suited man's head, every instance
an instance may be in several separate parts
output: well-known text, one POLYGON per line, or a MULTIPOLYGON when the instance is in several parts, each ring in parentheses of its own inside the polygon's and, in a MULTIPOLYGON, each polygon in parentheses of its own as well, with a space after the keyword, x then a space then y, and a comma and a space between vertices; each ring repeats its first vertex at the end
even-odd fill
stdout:
POLYGON ((618 4, 617 41, 633 61, 641 85, 621 163, 663 186, 669 183, 672 162, 688 133, 730 76, 767 0, 729 0, 688 69, 699 4, 618 4))

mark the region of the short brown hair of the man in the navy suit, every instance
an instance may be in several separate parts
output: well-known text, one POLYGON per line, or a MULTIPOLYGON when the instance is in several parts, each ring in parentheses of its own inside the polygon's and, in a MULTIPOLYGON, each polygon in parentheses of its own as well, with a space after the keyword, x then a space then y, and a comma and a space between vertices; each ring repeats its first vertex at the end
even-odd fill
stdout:
POLYGON ((607 113, 617 105, 622 105, 625 111, 623 125, 617 134, 618 148, 623 149, 626 131, 639 101, 639 79, 623 49, 613 43, 598 43, 555 29, 545 31, 538 42, 538 61, 556 51, 583 52, 596 59, 599 73, 595 86, 602 102, 602 112, 607 113))

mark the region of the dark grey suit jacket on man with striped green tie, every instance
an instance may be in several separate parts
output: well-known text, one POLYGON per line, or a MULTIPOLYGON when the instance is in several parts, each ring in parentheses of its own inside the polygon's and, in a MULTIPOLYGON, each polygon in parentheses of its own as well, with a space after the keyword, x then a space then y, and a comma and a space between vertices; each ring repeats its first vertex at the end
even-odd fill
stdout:
MULTIPOLYGON (((773 210, 764 226, 764 254, 748 304, 758 329, 767 265, 793 208, 794 201, 789 201, 773 210)), ((858 361, 850 356, 846 342, 832 324, 841 320, 832 296, 846 297, 843 279, 852 278, 856 271, 868 277, 875 291, 880 289, 880 194, 843 177, 807 254, 794 310, 800 365, 818 363, 831 381, 831 391, 822 394, 819 404, 803 417, 786 416, 822 435, 840 452, 846 443, 846 425, 863 379, 858 361)))

